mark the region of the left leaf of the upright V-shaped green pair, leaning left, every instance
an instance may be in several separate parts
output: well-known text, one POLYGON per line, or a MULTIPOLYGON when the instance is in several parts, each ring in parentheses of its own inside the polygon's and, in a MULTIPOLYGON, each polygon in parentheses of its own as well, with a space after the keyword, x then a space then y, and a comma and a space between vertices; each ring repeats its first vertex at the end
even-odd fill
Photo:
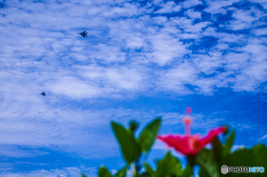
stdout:
POLYGON ((133 137, 123 126, 112 122, 112 128, 115 132, 117 140, 119 141, 121 151, 124 159, 129 163, 136 159, 139 155, 139 147, 133 137))

